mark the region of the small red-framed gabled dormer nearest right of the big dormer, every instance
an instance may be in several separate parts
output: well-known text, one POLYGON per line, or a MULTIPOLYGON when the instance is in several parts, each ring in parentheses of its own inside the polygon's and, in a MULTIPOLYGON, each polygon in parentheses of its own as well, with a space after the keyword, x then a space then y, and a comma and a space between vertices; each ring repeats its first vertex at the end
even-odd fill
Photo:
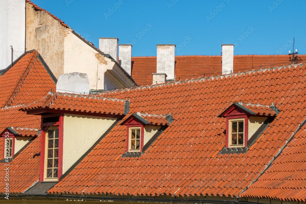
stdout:
POLYGON ((173 121, 171 115, 133 113, 120 125, 126 126, 126 153, 123 156, 140 156, 173 121))

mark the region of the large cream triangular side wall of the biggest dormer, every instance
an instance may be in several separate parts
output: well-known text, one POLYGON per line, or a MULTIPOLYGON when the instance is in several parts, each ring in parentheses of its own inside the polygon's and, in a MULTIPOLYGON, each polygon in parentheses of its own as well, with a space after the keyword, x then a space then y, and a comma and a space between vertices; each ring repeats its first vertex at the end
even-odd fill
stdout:
POLYGON ((106 132, 116 118, 64 114, 63 173, 106 132))

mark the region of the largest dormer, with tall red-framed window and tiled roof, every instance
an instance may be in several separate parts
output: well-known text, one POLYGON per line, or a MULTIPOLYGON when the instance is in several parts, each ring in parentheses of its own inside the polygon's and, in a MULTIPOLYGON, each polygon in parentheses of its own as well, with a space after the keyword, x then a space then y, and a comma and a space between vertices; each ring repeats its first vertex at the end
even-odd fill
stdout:
POLYGON ((20 109, 41 115, 40 182, 58 182, 129 111, 122 99, 49 92, 20 109))

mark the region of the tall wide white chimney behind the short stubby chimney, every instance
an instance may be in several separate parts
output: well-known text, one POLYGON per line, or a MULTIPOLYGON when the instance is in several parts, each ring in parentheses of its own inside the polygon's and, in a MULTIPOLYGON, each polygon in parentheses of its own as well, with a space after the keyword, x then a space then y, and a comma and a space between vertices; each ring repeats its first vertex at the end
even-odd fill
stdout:
POLYGON ((166 73, 169 79, 174 79, 174 57, 175 45, 156 45, 157 46, 157 73, 166 73))

